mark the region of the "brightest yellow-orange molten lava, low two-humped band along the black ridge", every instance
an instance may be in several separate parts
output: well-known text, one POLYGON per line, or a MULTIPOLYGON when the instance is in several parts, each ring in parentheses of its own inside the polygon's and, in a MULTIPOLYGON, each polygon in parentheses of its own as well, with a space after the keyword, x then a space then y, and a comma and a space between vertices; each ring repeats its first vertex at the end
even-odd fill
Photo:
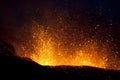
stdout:
POLYGON ((94 66, 105 68, 106 57, 101 56, 94 50, 95 46, 89 45, 93 49, 84 48, 83 50, 75 51, 73 54, 69 54, 69 51, 57 50, 52 44, 51 40, 46 39, 43 41, 43 46, 40 48, 40 43, 35 47, 35 52, 32 54, 31 59, 38 62, 41 65, 70 65, 70 66, 94 66), (67 53, 68 52, 68 53, 67 53))

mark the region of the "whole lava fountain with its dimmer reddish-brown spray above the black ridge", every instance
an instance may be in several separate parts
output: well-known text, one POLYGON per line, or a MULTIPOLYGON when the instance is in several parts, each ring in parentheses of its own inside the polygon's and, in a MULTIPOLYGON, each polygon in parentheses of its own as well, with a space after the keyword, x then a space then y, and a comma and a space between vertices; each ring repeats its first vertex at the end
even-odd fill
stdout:
POLYGON ((31 38, 21 45, 21 49, 17 51, 18 56, 30 58, 44 66, 107 68, 108 49, 104 42, 87 37, 82 31, 77 35, 69 34, 66 30, 68 28, 56 29, 33 24, 30 31, 31 38))

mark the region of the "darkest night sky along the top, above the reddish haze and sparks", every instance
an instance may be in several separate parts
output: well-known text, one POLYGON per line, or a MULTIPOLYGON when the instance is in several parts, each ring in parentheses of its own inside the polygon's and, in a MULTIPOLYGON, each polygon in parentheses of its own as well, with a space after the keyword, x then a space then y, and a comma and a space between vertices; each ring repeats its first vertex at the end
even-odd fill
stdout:
POLYGON ((42 9, 48 5, 56 9, 84 9, 94 14, 102 12, 104 16, 119 22, 119 3, 119 0, 0 0, 0 23, 21 24, 25 16, 33 16, 37 8, 42 9))

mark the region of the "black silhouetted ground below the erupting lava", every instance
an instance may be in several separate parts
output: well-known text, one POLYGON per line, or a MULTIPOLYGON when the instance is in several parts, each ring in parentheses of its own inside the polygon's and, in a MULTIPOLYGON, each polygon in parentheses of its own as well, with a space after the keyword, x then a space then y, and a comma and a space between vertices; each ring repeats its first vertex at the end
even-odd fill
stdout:
POLYGON ((41 66, 15 56, 0 56, 0 80, 120 80, 120 71, 94 67, 41 66))

